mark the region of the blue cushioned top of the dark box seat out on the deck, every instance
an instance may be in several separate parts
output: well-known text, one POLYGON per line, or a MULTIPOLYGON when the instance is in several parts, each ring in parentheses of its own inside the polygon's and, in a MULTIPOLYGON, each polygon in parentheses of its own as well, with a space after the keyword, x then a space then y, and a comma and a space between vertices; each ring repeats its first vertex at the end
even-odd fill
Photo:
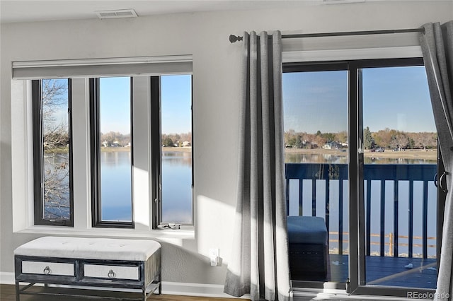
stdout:
POLYGON ((327 228, 323 218, 316 216, 288 216, 290 244, 327 244, 327 228))

